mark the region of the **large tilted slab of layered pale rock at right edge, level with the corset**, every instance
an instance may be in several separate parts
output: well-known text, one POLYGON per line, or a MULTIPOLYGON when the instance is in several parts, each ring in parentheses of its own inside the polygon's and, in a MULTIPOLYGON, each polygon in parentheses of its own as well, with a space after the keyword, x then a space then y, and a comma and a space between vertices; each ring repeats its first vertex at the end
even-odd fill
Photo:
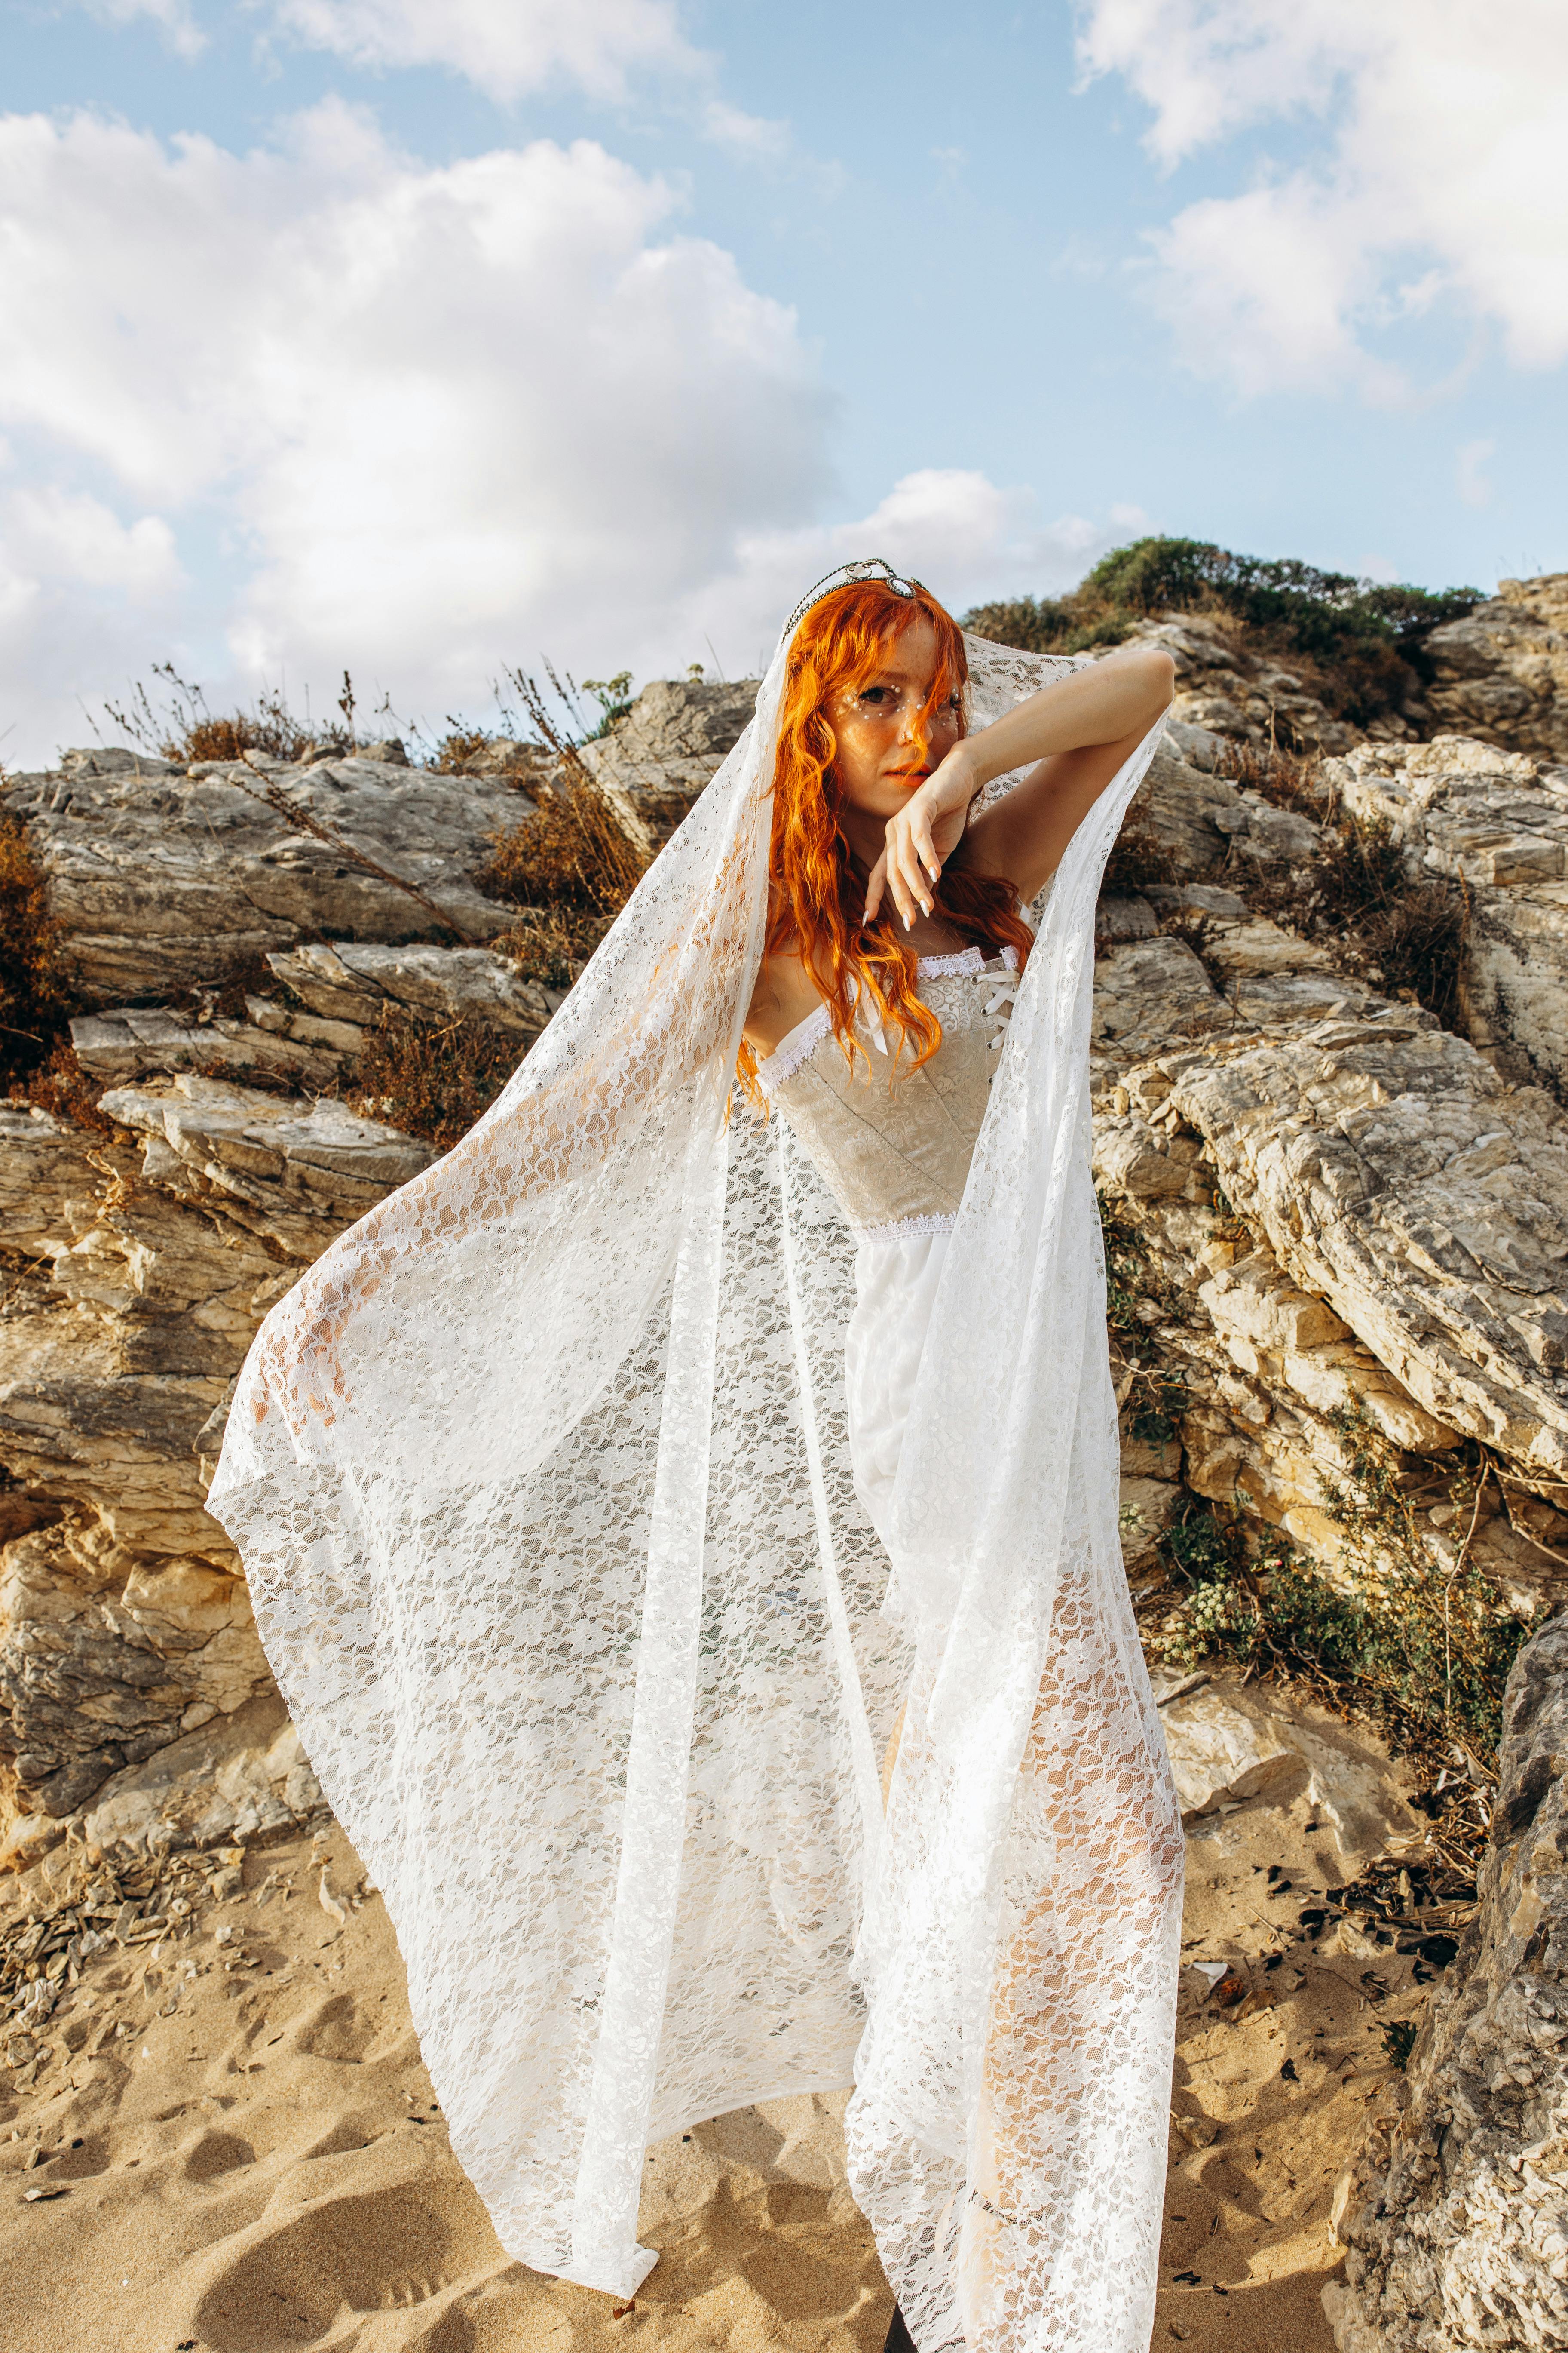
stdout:
POLYGON ((1284 1273, 1429 1414, 1568 1471, 1568 1120, 1549 1099, 1380 1000, 1222 1059, 1161 1056, 1159 1078, 1284 1273))

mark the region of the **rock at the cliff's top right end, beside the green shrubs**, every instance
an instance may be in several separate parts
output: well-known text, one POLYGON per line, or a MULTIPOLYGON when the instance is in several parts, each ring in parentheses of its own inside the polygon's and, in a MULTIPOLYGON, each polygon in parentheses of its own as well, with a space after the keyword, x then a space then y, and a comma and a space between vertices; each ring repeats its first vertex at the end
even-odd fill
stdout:
POLYGON ((1568 760, 1568 572, 1497 581, 1497 595, 1425 642, 1439 725, 1568 760))

